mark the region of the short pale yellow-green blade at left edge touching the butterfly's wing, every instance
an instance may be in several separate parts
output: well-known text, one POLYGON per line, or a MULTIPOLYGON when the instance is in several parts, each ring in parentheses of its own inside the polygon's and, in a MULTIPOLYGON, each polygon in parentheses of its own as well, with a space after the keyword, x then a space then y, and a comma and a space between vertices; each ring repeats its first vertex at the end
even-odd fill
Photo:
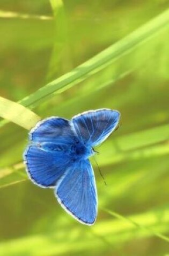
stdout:
POLYGON ((40 120, 40 117, 30 109, 1 96, 0 116, 28 130, 40 120))

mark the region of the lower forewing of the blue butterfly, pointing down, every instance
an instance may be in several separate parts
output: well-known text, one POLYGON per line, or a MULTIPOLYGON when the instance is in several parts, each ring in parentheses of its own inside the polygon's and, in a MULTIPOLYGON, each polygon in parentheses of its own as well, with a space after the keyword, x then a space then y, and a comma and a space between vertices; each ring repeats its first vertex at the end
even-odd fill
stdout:
POLYGON ((97 217, 97 189, 89 160, 69 167, 56 185, 55 196, 79 222, 92 225, 97 217))

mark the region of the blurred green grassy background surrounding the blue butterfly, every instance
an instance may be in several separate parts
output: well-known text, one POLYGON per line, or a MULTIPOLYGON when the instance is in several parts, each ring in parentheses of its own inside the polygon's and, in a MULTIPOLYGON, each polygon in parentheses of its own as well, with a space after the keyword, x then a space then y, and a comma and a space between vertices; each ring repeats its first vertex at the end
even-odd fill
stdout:
POLYGON ((42 118, 117 109, 121 126, 98 148, 107 186, 92 161, 99 210, 90 227, 28 181, 28 131, 1 120, 0 255, 169 255, 167 8, 167 0, 1 0, 1 96, 42 118), (71 81, 60 89, 63 74, 71 81))

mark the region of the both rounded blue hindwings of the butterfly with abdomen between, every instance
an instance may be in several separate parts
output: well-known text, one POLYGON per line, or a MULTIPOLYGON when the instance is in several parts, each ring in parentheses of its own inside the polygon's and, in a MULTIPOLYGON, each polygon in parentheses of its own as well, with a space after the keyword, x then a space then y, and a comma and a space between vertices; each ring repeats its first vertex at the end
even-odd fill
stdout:
POLYGON ((49 117, 31 130, 30 140, 23 155, 27 174, 36 185, 52 188, 71 164, 69 148, 77 137, 68 120, 49 117))

